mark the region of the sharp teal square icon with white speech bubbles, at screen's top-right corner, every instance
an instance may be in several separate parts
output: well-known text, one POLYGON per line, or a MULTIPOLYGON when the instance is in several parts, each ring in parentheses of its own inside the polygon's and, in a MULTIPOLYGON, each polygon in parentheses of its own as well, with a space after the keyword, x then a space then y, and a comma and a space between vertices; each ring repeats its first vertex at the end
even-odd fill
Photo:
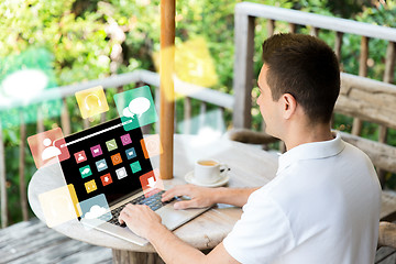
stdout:
POLYGON ((116 94, 114 101, 125 131, 151 124, 158 120, 148 86, 116 94))

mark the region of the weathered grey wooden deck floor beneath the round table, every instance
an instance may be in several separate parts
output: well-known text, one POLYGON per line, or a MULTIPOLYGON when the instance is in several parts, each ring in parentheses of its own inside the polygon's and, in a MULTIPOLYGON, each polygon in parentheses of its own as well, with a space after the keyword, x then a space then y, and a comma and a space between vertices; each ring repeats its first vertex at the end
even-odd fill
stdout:
MULTIPOLYGON (((0 263, 110 264, 112 252, 69 239, 34 218, 0 230, 0 263)), ((375 264, 396 264, 396 250, 381 248, 375 264)))

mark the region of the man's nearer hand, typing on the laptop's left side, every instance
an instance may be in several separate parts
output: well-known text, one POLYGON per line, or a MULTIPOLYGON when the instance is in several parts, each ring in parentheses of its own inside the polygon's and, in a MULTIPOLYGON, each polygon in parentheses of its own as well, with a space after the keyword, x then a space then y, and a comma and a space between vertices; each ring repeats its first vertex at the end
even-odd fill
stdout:
POLYGON ((120 223, 127 223, 128 228, 139 237, 148 239, 150 232, 155 232, 161 227, 161 217, 147 206, 133 206, 129 204, 122 209, 120 223))

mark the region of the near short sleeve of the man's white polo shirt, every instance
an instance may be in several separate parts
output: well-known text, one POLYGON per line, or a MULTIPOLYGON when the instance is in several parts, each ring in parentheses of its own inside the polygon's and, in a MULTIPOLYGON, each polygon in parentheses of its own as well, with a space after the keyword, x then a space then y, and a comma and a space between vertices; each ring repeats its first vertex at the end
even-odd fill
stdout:
POLYGON ((292 250, 295 240, 278 204, 268 196, 252 194, 223 245, 241 263, 263 264, 272 263, 292 250))

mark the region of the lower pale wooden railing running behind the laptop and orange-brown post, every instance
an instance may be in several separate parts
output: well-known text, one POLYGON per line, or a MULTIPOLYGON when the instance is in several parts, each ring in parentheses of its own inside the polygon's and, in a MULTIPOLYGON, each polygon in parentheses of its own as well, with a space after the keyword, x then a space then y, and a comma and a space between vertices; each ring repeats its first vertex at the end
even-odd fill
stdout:
MULTIPOLYGON (((57 87, 54 89, 44 90, 44 92, 36 95, 32 98, 30 103, 42 103, 50 100, 55 100, 61 98, 64 100, 64 107, 62 110, 61 117, 61 127, 65 135, 70 134, 70 117, 67 110, 66 99, 74 97, 76 91, 85 90, 95 86, 102 86, 103 89, 117 88, 118 92, 123 91, 123 86, 129 84, 146 84, 156 88, 155 101, 156 107, 158 108, 158 95, 160 95, 160 75, 148 70, 134 70, 128 74, 114 75, 103 79, 90 80, 87 82, 57 87)), ((232 110, 233 108, 233 97, 217 90, 208 89, 205 87, 199 87, 196 85, 187 84, 180 80, 175 80, 175 90, 179 95, 184 95, 184 120, 186 130, 185 133, 188 133, 188 124, 191 119, 193 103, 191 100, 200 101, 200 114, 205 116, 207 110, 207 105, 213 105, 218 107, 223 114, 226 109, 232 110)), ((0 111, 7 111, 11 108, 19 108, 23 106, 21 100, 10 100, 8 106, 0 106, 0 111)), ((76 103, 77 107, 77 103, 76 103)), ((22 116, 21 116, 22 117, 22 116)), ((101 121, 105 120, 102 114, 101 121)), ((176 120, 175 120, 176 123, 176 120)), ((84 128, 88 128, 89 122, 84 120, 84 128)), ((1 120, 0 120, 1 128, 1 120)), ((36 132, 41 133, 44 131, 44 120, 38 110, 37 121, 36 121, 36 132)), ((25 183, 25 148, 26 148, 26 124, 21 120, 20 124, 20 145, 19 145, 19 190, 20 190, 20 200, 21 200, 21 210, 23 220, 29 219, 29 209, 28 209, 28 199, 26 199, 26 183, 25 183)), ((7 178, 6 178, 6 150, 4 150, 4 140, 2 129, 0 129, 0 199, 1 199, 1 227, 6 228, 9 224, 9 208, 8 208, 8 196, 7 196, 7 178)))

